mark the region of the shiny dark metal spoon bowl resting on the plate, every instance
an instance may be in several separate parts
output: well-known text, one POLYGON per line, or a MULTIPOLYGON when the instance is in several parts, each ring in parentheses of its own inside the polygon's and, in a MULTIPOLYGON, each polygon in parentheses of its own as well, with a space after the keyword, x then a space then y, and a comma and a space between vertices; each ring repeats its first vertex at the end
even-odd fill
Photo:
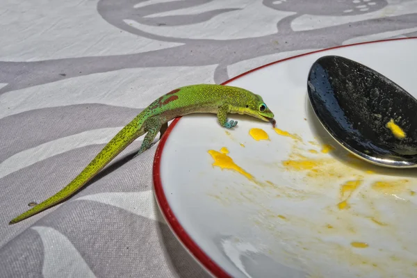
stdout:
POLYGON ((417 99, 406 90, 341 56, 316 60, 307 84, 314 113, 345 149, 377 165, 417 167, 417 99))

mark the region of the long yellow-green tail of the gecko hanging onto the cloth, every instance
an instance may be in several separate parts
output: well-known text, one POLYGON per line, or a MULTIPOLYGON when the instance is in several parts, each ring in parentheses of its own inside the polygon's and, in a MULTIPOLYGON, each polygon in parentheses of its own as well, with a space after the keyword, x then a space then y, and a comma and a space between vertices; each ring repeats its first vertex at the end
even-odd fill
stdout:
POLYGON ((101 152, 93 158, 93 160, 84 168, 81 173, 76 176, 70 183, 68 183, 65 188, 61 189, 55 195, 44 200, 42 203, 34 206, 25 213, 17 216, 9 222, 9 224, 15 224, 26 218, 29 218, 37 213, 40 213, 51 206, 54 206, 60 202, 63 202, 65 199, 76 193, 80 188, 85 186, 85 183, 90 181, 95 175, 110 161, 115 158, 120 152, 122 152, 127 146, 131 144, 136 138, 142 136, 145 131, 142 128, 143 126, 143 117, 142 113, 135 117, 129 124, 126 124, 123 129, 121 129, 108 144, 101 149, 101 152))

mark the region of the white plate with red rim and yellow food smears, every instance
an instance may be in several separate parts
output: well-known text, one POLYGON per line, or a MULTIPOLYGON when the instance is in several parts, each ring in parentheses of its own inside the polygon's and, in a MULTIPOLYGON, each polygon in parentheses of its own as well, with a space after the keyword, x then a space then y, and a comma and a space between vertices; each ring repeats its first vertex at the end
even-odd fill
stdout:
POLYGON ((416 49, 415 39, 327 49, 227 84, 261 95, 277 128, 302 140, 247 116, 229 115, 238 119, 229 134, 215 115, 175 120, 156 152, 155 193, 174 234, 197 261, 217 277, 416 277, 417 171, 347 155, 316 120, 306 92, 313 62, 339 55, 417 97, 416 49), (252 128, 270 140, 254 140, 252 128), (323 153, 324 144, 336 149, 323 153), (254 179, 213 166, 208 150, 222 147, 254 179), (353 185, 343 187, 349 181, 353 185))

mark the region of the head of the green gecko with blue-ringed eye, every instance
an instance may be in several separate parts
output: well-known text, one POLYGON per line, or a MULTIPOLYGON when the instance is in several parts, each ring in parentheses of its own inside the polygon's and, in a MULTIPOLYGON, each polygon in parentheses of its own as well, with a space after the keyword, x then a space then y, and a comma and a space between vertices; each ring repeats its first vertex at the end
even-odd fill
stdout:
POLYGON ((265 104, 260 95, 251 94, 251 97, 245 101, 243 108, 238 113, 257 117, 265 122, 270 122, 275 127, 274 113, 265 104))

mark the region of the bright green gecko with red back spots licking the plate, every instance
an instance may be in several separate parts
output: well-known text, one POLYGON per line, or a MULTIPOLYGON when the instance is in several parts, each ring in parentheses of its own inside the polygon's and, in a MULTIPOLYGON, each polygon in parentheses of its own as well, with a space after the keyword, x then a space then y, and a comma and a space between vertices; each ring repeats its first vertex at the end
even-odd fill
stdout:
POLYGON ((152 142, 158 133, 161 133, 159 139, 162 138, 170 120, 190 113, 215 113, 220 125, 226 129, 231 129, 238 124, 237 121, 227 120, 228 113, 250 115, 266 122, 269 121, 275 126, 274 114, 263 102, 262 97, 243 88, 227 85, 199 84, 172 90, 156 99, 129 124, 126 124, 65 188, 17 216, 9 224, 15 224, 63 202, 95 177, 101 169, 112 161, 117 154, 120 154, 131 142, 146 133, 136 156, 142 154, 142 152, 152 147, 152 142))

